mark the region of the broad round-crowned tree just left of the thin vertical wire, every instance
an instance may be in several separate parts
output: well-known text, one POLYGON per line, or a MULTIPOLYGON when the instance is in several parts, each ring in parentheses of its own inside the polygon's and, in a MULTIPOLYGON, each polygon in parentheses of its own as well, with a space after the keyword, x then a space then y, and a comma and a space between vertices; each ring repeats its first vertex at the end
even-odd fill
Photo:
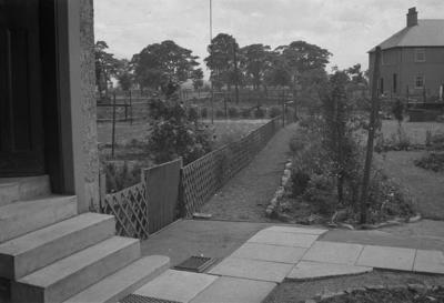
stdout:
POLYGON ((159 90, 169 83, 179 85, 190 79, 191 72, 199 65, 196 59, 191 50, 178 46, 174 41, 165 40, 150 44, 134 54, 132 64, 135 80, 142 88, 159 90))

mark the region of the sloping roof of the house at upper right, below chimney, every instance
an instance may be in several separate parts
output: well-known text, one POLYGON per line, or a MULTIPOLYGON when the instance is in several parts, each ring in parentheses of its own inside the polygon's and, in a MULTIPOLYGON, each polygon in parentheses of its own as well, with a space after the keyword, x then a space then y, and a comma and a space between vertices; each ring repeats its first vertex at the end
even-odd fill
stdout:
POLYGON ((417 20, 417 23, 402 29, 379 47, 383 50, 398 47, 444 47, 444 19, 423 19, 417 20))

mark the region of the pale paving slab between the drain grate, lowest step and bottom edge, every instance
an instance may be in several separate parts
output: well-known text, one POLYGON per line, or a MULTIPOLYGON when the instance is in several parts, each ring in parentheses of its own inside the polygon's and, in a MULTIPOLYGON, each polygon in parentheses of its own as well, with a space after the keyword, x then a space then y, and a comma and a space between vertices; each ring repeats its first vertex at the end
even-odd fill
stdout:
POLYGON ((216 280, 210 274, 168 270, 134 294, 188 303, 216 280))

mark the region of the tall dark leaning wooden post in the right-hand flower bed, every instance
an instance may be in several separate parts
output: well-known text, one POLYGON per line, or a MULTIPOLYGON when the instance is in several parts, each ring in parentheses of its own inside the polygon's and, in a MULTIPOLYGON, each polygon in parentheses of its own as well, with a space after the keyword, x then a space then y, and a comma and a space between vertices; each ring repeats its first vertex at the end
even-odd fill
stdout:
POLYGON ((365 164, 364 164, 364 176, 362 181, 362 192, 361 192, 361 224, 367 222, 367 212, 369 212, 369 183, 370 183, 370 173, 372 169, 372 159, 373 159, 373 143, 374 135, 376 131, 376 121, 379 119, 380 111, 380 95, 377 83, 380 82, 380 73, 381 73, 381 47, 376 47, 375 51, 375 62, 373 65, 373 77, 372 77, 372 111, 370 113, 370 124, 369 124, 369 139, 366 147, 366 155, 365 155, 365 164))

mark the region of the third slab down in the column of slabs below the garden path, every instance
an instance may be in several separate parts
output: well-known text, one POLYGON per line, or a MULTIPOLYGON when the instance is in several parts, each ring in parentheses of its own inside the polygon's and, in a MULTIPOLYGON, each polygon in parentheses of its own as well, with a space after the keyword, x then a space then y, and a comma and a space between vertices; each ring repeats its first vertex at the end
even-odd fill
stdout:
POLYGON ((280 283, 293 266, 294 264, 230 256, 219 263, 209 273, 280 283))

